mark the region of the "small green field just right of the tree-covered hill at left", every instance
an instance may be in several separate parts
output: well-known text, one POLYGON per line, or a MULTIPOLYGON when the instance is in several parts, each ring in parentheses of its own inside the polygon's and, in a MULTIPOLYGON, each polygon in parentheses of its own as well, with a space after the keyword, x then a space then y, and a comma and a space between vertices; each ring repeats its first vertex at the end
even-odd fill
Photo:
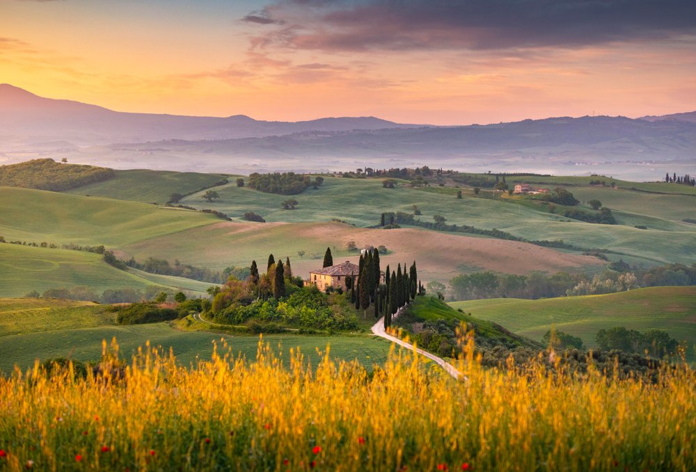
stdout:
POLYGON ((65 193, 109 197, 116 200, 159 203, 168 202, 169 195, 187 195, 209 187, 224 175, 200 174, 198 172, 171 172, 167 170, 116 170, 116 176, 97 184, 89 184, 68 190, 65 193))

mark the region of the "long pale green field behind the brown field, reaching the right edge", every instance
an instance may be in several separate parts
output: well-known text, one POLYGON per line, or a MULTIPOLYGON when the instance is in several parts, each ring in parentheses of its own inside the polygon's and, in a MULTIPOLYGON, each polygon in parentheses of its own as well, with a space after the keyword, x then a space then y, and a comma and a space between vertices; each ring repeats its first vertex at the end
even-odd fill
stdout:
MULTIPOLYGON (((576 191, 576 188, 571 190, 576 191)), ((464 198, 457 199, 454 193, 454 188, 397 186, 388 189, 381 186, 381 179, 326 177, 319 189, 308 189, 295 195, 299 205, 292 211, 280 209, 280 202, 287 198, 285 195, 238 188, 235 184, 219 188, 221 199, 212 204, 204 202, 200 193, 184 201, 191 206, 222 211, 233 218, 241 217, 246 211, 255 211, 269 222, 326 222, 336 218, 362 227, 379 224, 383 211, 411 213, 415 204, 422 211, 420 219, 423 221, 432 221, 433 215, 441 214, 449 224, 497 228, 529 240, 561 239, 578 247, 614 250, 646 264, 693 261, 696 254, 696 226, 657 219, 650 216, 655 213, 653 211, 647 213, 647 218, 617 214, 617 219, 624 225, 595 225, 547 213, 535 204, 474 197, 470 190, 464 191, 464 198), (637 229, 635 225, 645 225, 649 229, 637 229)), ((633 197, 640 202, 638 206, 645 204, 640 199, 651 197, 651 194, 638 192, 631 194, 635 194, 633 197)), ((672 206, 679 209, 679 214, 691 208, 688 205, 690 200, 683 199, 692 197, 670 197, 674 199, 672 206)), ((657 205, 654 203, 649 207, 656 209, 657 205)), ((626 211, 630 209, 626 208, 626 211)))

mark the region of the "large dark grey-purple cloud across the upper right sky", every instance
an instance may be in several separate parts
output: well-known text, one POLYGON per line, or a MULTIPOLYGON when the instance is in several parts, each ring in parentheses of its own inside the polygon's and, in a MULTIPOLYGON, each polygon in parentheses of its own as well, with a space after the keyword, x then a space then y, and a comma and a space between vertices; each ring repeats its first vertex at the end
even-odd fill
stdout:
POLYGON ((250 16, 292 26, 255 44, 322 51, 576 47, 696 34, 695 0, 279 0, 269 8, 279 19, 250 16))

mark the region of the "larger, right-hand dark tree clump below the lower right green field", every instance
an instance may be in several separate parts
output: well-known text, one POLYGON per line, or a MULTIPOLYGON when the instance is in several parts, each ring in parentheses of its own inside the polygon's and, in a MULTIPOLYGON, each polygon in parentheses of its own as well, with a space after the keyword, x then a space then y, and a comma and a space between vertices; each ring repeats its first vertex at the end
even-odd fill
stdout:
POLYGON ((597 332, 596 343, 603 350, 647 352, 650 356, 658 358, 673 355, 679 348, 676 339, 659 329, 650 329, 643 333, 625 327, 600 329, 597 332))

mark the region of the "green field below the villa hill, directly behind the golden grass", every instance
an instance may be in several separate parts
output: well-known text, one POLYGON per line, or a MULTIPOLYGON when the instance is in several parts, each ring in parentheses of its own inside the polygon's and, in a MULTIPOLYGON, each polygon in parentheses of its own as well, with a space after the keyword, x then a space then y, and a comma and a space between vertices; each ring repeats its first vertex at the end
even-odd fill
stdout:
MULTIPOLYGON (((0 372, 8 373, 17 364, 33 366, 35 359, 71 357, 81 361, 100 359, 102 341, 116 337, 122 357, 129 358, 147 341, 153 346, 173 348, 183 364, 196 359, 209 359, 213 341, 221 339, 230 345, 235 355, 241 353, 255 359, 257 336, 228 336, 204 331, 182 331, 168 323, 148 325, 115 325, 113 314, 105 305, 45 298, 0 299, 0 372)), ((336 359, 358 359, 364 366, 381 364, 386 359, 390 343, 368 334, 350 336, 299 336, 272 334, 263 337, 276 352, 289 354, 299 348, 306 361, 316 366, 326 346, 336 359)), ((222 348, 219 348, 219 351, 222 348)))

